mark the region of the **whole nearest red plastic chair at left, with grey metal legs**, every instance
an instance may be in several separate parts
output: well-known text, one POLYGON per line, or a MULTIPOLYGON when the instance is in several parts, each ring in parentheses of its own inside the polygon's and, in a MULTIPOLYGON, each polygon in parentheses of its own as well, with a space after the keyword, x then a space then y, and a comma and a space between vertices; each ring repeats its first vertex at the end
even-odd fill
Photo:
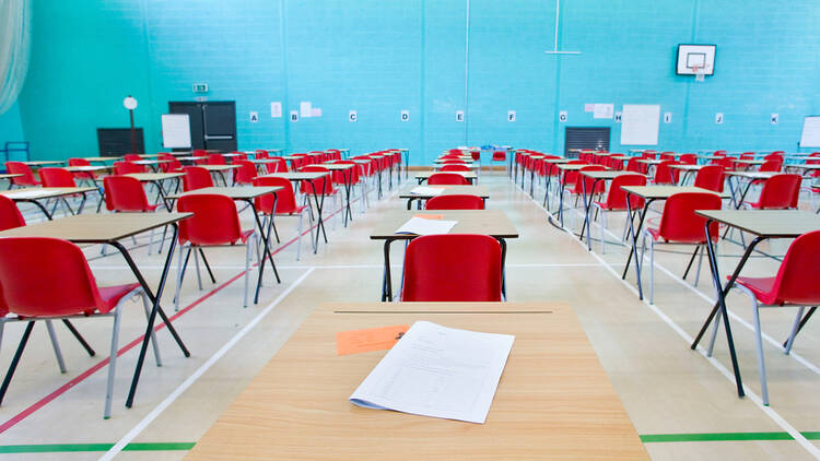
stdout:
MULTIPOLYGON (((139 283, 98 287, 82 250, 74 244, 45 237, 9 237, 0 239, 0 329, 9 322, 26 322, 15 358, 20 358, 34 328, 44 320, 54 339, 51 320, 113 317, 108 379, 103 416, 112 413, 112 397, 117 365, 118 334, 125 302, 141 296, 147 316, 150 308, 139 283), (48 261, 48 263, 44 263, 48 261), (14 317, 5 316, 12 314, 14 317)), ((161 365, 156 338, 153 332, 156 364, 161 365)), ((56 340, 52 340, 52 342, 56 340)), ((60 370, 66 371, 62 355, 54 342, 60 370)), ((5 376, 0 389, 0 401, 16 369, 17 360, 5 376)))

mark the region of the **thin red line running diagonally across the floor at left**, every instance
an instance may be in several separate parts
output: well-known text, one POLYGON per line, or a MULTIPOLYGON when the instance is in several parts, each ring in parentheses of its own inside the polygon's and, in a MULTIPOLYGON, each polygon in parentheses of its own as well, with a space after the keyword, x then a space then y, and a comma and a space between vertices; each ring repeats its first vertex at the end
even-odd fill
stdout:
MULTIPOLYGON (((355 199, 352 202, 355 202, 358 200, 359 199, 355 199)), ((342 203, 342 208, 340 208, 339 210, 337 210, 337 211, 328 214, 327 217, 330 218, 330 217, 335 216, 337 213, 340 213, 342 210, 344 210, 344 203, 342 203)), ((305 230, 305 232, 302 233, 302 236, 304 236, 305 234, 309 234, 311 230, 313 230, 317 226, 318 226, 318 223, 314 224, 312 227, 308 227, 307 230, 305 230)), ((317 232, 318 232, 318 229, 317 229, 317 232)), ((283 249, 288 248, 288 246, 290 246, 293 243, 295 243, 297 239, 298 239, 298 236, 294 237, 293 239, 291 239, 286 244, 280 245, 279 248, 277 248, 274 250, 271 250, 271 252, 270 252, 271 256, 279 253, 283 249)), ((254 267, 256 267, 256 265, 257 264, 254 264, 254 267)), ((176 314, 174 314, 173 316, 169 317, 169 320, 174 321, 177 318, 181 317, 184 314, 189 312, 191 309, 194 309, 195 307, 197 307, 200 304, 202 304, 202 302, 204 302, 206 299, 208 299, 211 296, 215 295, 216 293, 219 293, 220 291, 222 291, 223 288, 225 288, 227 285, 234 283, 236 280, 238 280, 239 277, 242 277, 244 274, 245 274, 245 271, 242 271, 238 274, 234 275, 233 277, 231 277, 230 280, 227 280, 226 282, 222 283, 220 286, 218 286, 218 287, 211 289, 210 292, 208 292, 207 294, 204 294, 199 299, 197 299, 194 303, 189 304, 185 308, 179 309, 179 311, 177 311, 176 314)), ((154 327, 154 331, 160 331, 163 328, 165 328, 165 323, 164 322, 160 322, 156 327, 154 327)), ((136 340, 133 340, 130 343, 128 343, 127 345, 122 346, 119 351, 117 351, 117 357, 119 357, 122 354, 125 354, 126 352, 130 351, 136 345, 141 344, 142 343, 142 339, 144 336, 145 336, 144 334, 141 334, 136 340)), ((85 371, 81 373, 80 375, 78 375, 77 377, 74 377, 73 379, 71 379, 70 381, 68 381, 65 385, 60 386, 54 392, 49 393, 48 395, 46 395, 43 399, 38 400, 37 402, 35 402, 31 406, 26 407, 22 412, 20 412, 16 415, 12 416, 8 421, 5 421, 3 424, 0 424, 0 434, 3 434, 4 432, 7 432, 10 428, 14 427, 21 421, 23 421, 26 417, 31 416, 34 412, 36 412, 37 410, 42 409, 47 403, 51 402, 52 400, 55 400, 58 397, 62 395, 63 393, 68 392, 74 386, 77 386, 80 382, 82 382, 83 380, 87 379, 91 375, 93 375, 94 373, 96 373, 98 369, 101 369, 101 368, 105 367, 106 365, 108 365, 108 360, 109 360, 109 357, 106 357, 105 359, 103 359, 99 363, 95 364, 94 366, 92 366, 91 368, 86 369, 85 371)))

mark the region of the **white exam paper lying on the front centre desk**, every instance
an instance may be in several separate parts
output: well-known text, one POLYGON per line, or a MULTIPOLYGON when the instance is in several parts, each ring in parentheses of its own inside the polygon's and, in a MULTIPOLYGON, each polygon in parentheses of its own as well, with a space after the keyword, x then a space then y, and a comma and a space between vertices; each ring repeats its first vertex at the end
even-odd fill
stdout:
POLYGON ((483 424, 515 336, 442 327, 410 330, 359 385, 359 406, 483 424))

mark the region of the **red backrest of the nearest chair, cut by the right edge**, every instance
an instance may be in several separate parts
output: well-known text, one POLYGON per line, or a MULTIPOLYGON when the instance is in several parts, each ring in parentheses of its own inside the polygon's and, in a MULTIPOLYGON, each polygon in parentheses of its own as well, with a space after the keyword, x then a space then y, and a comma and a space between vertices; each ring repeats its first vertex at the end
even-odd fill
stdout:
POLYGON ((776 304, 820 304, 820 230, 797 237, 786 251, 772 285, 776 304))

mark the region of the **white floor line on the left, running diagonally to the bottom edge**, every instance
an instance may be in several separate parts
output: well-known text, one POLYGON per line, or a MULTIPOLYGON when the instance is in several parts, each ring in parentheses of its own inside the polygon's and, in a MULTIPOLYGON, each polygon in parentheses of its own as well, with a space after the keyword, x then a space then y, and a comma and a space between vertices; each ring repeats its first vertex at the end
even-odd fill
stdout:
POLYGON ((140 433, 142 433, 156 417, 159 417, 162 412, 164 412, 168 406, 171 406, 176 399, 179 398, 179 395, 183 394, 188 388, 190 388, 202 375, 204 375, 206 371, 208 371, 216 362, 219 362, 222 356, 224 356, 229 351, 231 351, 236 343, 239 342, 250 330, 253 330, 257 323, 259 323, 268 314, 270 314, 271 310, 273 310, 274 307, 279 303, 282 302, 294 288, 296 288, 305 279, 307 279, 308 275, 313 273, 313 269, 307 270, 302 276, 300 276, 291 286, 289 286, 282 294, 280 294, 271 304, 265 307, 265 309, 259 312, 256 317, 254 317, 253 320, 250 320, 242 330, 239 330, 238 333, 236 333, 229 342, 226 342, 222 347, 220 347, 216 353, 214 353, 211 358, 209 358, 204 364, 202 364, 199 368, 197 368, 196 371, 191 376, 188 377, 185 381, 183 381, 181 385, 179 385, 176 389, 174 389, 173 392, 168 394, 168 397, 165 398, 162 402, 160 402, 159 405, 156 405, 151 413, 145 415, 142 421, 140 421, 131 430, 128 432, 122 438, 120 438, 117 444, 114 445, 114 447, 110 448, 105 454, 103 454, 99 459, 101 460, 112 460, 114 457, 119 454, 122 449, 131 442, 140 433))

